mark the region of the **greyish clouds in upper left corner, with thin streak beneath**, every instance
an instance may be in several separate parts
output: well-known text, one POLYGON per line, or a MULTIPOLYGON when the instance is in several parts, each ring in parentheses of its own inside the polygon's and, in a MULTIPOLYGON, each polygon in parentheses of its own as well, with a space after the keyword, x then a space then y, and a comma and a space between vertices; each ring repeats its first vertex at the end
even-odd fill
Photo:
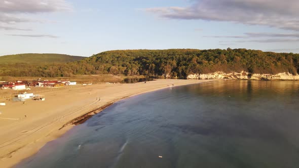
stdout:
MULTIPOLYGON (((19 23, 44 23, 43 20, 32 19, 32 15, 70 11, 71 5, 65 0, 0 0, 0 30, 32 31, 23 28, 19 23)), ((6 34, 20 37, 58 38, 49 34, 6 34)))

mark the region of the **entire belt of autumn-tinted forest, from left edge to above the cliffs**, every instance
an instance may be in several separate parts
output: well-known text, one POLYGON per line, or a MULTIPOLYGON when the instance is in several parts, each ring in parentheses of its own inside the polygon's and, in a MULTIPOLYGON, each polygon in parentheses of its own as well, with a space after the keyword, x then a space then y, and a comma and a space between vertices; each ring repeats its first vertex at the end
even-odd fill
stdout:
POLYGON ((259 50, 117 50, 80 61, 47 64, 0 64, 0 76, 70 77, 78 74, 123 74, 186 78, 215 71, 251 73, 299 72, 299 54, 259 50))

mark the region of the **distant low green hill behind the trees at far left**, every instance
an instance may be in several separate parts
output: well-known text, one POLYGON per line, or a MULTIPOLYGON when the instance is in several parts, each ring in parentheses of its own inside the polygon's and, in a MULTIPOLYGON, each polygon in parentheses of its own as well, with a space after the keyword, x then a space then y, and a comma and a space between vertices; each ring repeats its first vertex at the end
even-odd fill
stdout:
POLYGON ((67 63, 80 61, 85 57, 64 54, 16 54, 0 57, 0 64, 11 63, 67 63))

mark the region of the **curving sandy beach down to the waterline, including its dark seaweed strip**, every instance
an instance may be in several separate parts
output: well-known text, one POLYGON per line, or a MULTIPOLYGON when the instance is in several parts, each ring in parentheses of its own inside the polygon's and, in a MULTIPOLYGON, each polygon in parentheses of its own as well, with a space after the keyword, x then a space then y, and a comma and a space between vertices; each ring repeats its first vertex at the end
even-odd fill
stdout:
MULTIPOLYGON (((32 121, 26 121, 27 118, 21 118, 19 121, 5 121, 2 124, 0 123, 0 135, 1 137, 6 137, 4 138, 4 140, 0 140, 0 165, 1 167, 11 167, 16 165, 23 159, 28 158, 38 152, 46 143, 53 141, 65 134, 72 127, 74 127, 74 125, 85 122, 93 115, 100 113, 105 108, 117 101, 148 92, 166 89, 172 85, 174 85, 173 87, 176 87, 215 80, 217 79, 158 79, 149 81, 144 84, 141 82, 116 85, 102 84, 88 86, 84 89, 78 87, 67 91, 64 90, 54 93, 51 92, 47 95, 45 102, 47 103, 48 107, 51 107, 51 105, 55 106, 56 103, 56 108, 52 107, 48 110, 45 110, 44 112, 48 112, 46 116, 44 116, 43 114, 31 112, 32 115, 37 115, 31 119, 32 121), (73 91, 75 91, 75 93, 73 93, 73 91), (68 94, 68 96, 65 96, 65 99, 70 98, 70 101, 55 101, 58 96, 64 96, 63 94, 68 94), (98 97, 97 94, 103 94, 104 96, 98 97), (82 97, 80 97, 81 95, 82 97), (77 99, 74 97, 77 97, 77 99), (50 100, 47 102, 48 98, 50 100), (86 101, 82 101, 83 99, 86 99, 86 101), (59 109, 60 107, 62 109, 59 109), (36 123, 34 123, 34 121, 36 121, 36 123), (43 121, 47 122, 45 123, 43 121), (11 134, 13 134, 14 132, 19 133, 12 136, 11 134)), ((26 113, 30 112, 30 110, 32 111, 32 109, 38 106, 35 104, 35 102, 28 102, 28 105, 26 104, 24 105, 24 107, 29 108, 24 109, 22 108, 22 105, 20 105, 20 107, 11 104, 13 103, 8 104, 6 109, 10 110, 12 113, 17 114, 17 110, 22 109, 23 112, 26 113)), ((41 108, 43 108, 43 106, 41 106, 41 108)), ((12 115, 12 117, 14 117, 14 115, 12 115)))

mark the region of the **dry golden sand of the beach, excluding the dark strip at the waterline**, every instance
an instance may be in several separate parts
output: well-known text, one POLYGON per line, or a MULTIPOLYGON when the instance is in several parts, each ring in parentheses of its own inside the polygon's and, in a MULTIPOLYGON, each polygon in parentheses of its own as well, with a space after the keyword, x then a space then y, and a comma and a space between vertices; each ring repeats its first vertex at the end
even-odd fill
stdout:
POLYGON ((66 87, 44 94, 46 101, 7 102, 0 106, 0 167, 11 167, 73 127, 74 118, 145 92, 211 80, 159 79, 146 83, 66 87), (25 115, 27 117, 25 117, 25 115), (11 118, 11 119, 3 119, 11 118), (62 128, 63 127, 63 128, 62 128), (62 128, 62 129, 61 129, 62 128))

